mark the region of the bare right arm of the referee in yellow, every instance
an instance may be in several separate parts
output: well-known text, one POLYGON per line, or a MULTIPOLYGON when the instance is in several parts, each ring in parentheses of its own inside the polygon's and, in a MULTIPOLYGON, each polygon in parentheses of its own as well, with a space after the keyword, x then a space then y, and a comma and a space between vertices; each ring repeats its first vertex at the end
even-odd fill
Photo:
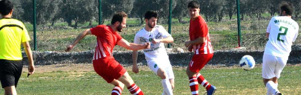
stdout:
POLYGON ((24 46, 24 49, 25 49, 25 52, 26 52, 26 55, 27 55, 27 58, 28 58, 28 74, 33 74, 34 72, 34 65, 33 65, 33 57, 32 57, 32 52, 31 52, 31 48, 29 46, 29 42, 26 41, 26 42, 23 42, 22 43, 23 46, 24 46))

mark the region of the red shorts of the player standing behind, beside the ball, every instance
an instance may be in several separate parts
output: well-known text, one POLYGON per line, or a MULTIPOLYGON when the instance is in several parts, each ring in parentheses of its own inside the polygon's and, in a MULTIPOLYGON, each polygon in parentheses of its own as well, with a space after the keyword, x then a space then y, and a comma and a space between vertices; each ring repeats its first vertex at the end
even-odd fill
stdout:
POLYGON ((194 54, 190 63, 189 70, 193 72, 199 72, 213 57, 211 54, 194 54))

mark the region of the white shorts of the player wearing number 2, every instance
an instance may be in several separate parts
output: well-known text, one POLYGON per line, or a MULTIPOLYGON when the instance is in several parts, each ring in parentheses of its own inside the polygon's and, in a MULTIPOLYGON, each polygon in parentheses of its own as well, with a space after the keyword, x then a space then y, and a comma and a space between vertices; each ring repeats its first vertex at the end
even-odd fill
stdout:
POLYGON ((263 55, 262 59, 262 78, 280 78, 280 73, 286 65, 288 57, 281 58, 273 55, 263 55))

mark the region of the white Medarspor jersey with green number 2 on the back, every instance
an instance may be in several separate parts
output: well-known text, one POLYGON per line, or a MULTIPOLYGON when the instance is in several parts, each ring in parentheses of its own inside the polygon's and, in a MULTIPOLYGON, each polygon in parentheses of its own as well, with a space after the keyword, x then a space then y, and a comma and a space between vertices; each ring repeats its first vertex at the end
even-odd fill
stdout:
POLYGON ((297 38, 299 25, 287 16, 273 17, 268 25, 270 33, 265 46, 264 54, 277 57, 288 57, 291 45, 297 38))

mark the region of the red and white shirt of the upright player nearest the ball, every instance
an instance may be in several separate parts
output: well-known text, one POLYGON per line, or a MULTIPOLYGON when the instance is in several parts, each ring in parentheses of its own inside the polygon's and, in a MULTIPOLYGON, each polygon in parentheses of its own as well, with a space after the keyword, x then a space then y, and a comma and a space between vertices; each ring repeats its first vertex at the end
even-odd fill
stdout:
POLYGON ((190 40, 196 40, 199 37, 205 37, 205 42, 199 45, 193 45, 194 54, 210 54, 213 53, 213 47, 210 42, 208 26, 203 17, 198 16, 197 19, 190 19, 189 25, 190 40))

